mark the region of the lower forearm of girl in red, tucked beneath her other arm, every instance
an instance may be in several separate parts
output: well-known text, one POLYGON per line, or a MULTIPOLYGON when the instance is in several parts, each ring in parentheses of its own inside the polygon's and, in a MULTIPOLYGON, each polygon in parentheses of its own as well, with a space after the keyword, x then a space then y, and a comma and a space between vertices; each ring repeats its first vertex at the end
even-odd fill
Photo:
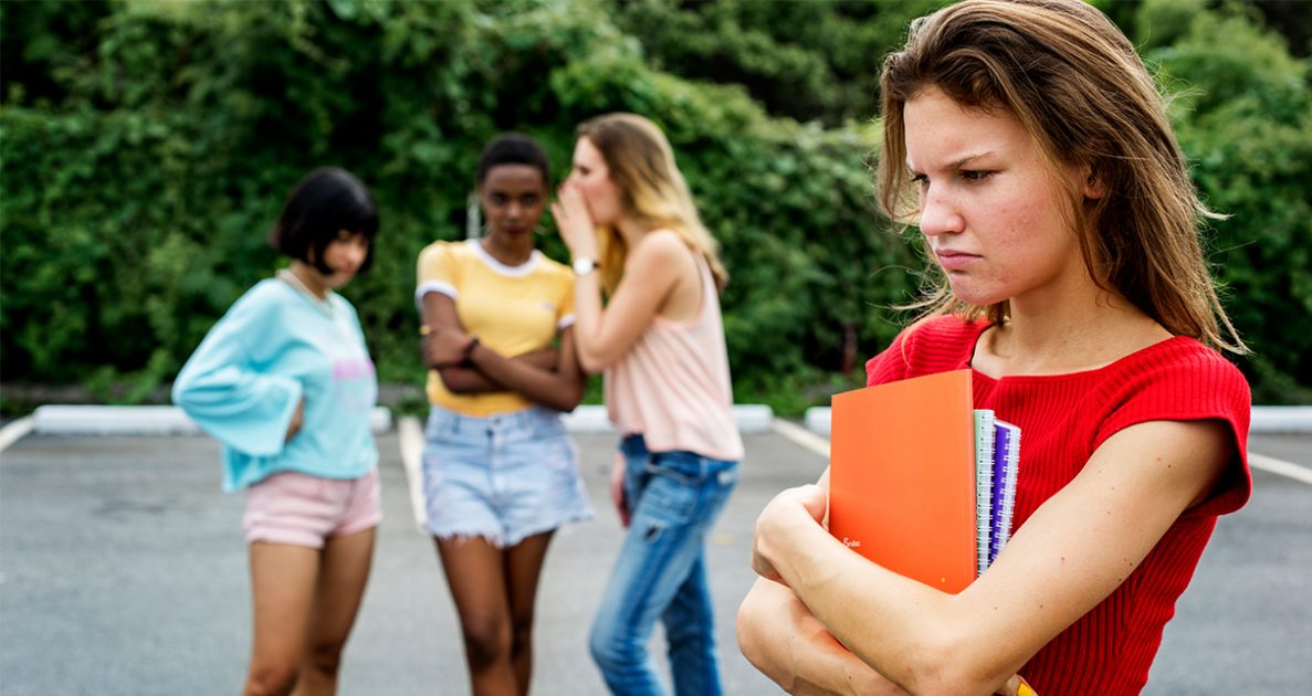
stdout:
POLYGON ((787 587, 757 581, 739 608, 743 655, 789 693, 900 695, 848 651, 787 587))

